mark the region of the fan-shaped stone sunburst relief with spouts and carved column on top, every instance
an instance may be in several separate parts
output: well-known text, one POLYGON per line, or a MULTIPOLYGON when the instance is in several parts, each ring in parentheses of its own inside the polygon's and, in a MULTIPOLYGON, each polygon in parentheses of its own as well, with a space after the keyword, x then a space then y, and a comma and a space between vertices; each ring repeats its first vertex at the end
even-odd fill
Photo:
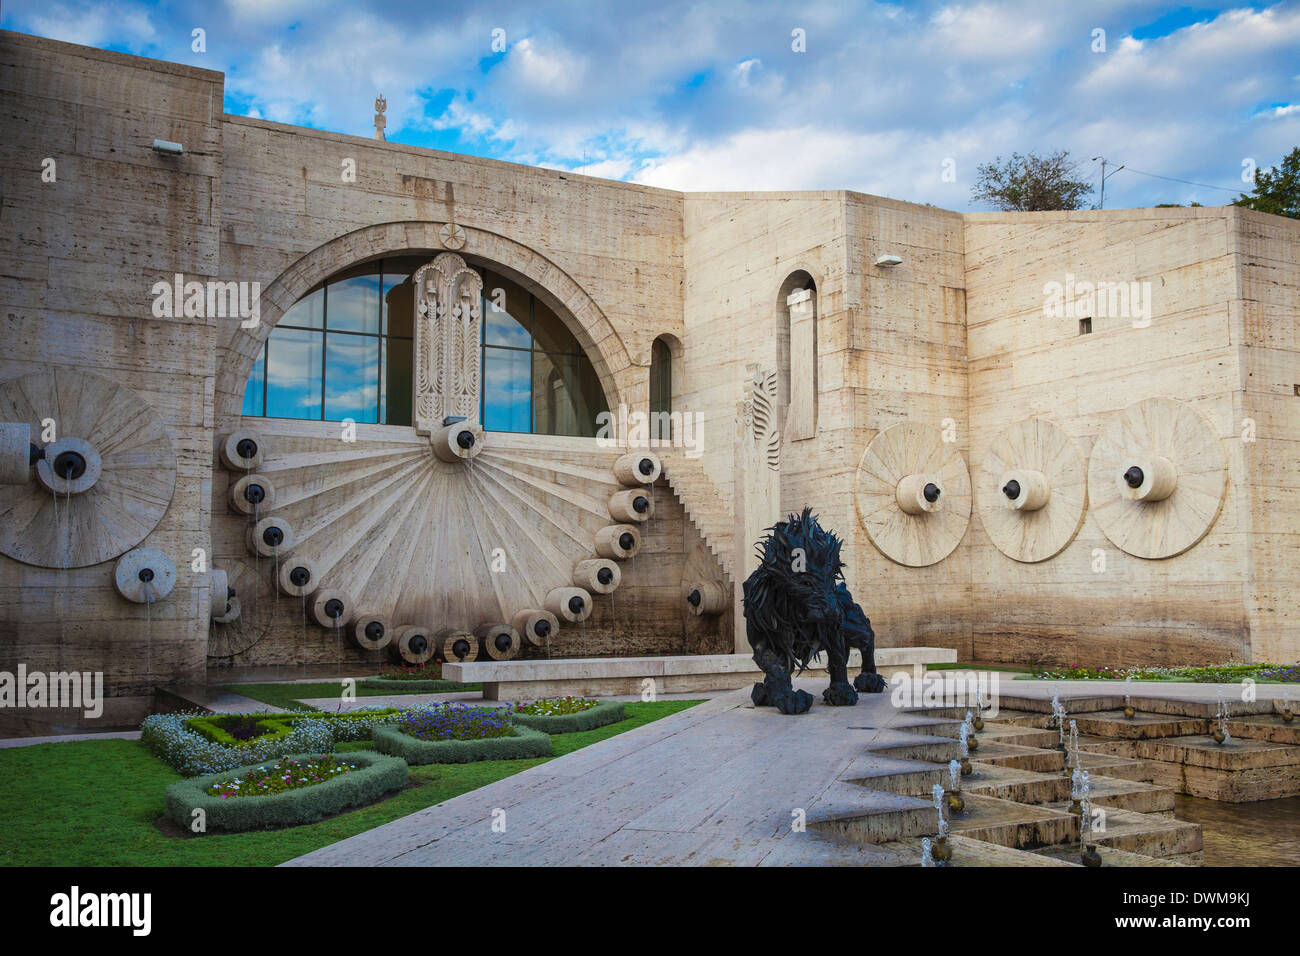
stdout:
POLYGON ((412 282, 415 427, 344 437, 337 423, 247 419, 255 431, 220 442, 226 498, 246 516, 243 559, 274 566, 268 578, 317 623, 406 659, 450 631, 512 656, 618 587, 662 466, 590 438, 485 434, 482 278, 442 252, 412 282))

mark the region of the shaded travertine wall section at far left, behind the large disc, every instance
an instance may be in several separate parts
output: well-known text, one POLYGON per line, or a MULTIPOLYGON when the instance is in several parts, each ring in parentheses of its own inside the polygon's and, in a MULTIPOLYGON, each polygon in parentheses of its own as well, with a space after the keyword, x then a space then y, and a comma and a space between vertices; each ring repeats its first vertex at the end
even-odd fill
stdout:
POLYGON ((208 587, 190 554, 208 544, 217 329, 155 317, 151 289, 176 272, 220 272, 221 83, 0 33, 0 380, 56 367, 107 376, 153 406, 177 459, 170 507, 140 542, 176 559, 170 597, 127 604, 113 562, 53 570, 0 557, 0 670, 103 671, 105 691, 125 698, 203 675, 208 587), (159 156, 155 139, 187 155, 159 156))

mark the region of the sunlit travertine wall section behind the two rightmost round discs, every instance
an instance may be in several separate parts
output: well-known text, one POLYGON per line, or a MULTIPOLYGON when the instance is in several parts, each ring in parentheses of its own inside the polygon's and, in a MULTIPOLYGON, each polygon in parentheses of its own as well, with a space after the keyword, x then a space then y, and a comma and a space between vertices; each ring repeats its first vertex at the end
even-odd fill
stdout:
POLYGON ((1122 408, 1154 397, 1202 412, 1230 463, 1209 533, 1161 561, 1119 550, 1089 509, 1061 554, 1020 563, 992 545, 975 516, 967 545, 976 658, 1121 665, 1251 654, 1252 490, 1239 440, 1232 237, 1226 209, 1041 213, 1031 225, 1013 215, 966 216, 972 467, 1002 428, 1031 415, 1063 428, 1087 459, 1122 408), (1150 324, 1098 313, 1092 333, 1080 334, 1078 319, 1049 317, 1044 286, 1067 273, 1078 282, 1149 282, 1150 324), (1093 570, 1095 550, 1104 571, 1093 570))

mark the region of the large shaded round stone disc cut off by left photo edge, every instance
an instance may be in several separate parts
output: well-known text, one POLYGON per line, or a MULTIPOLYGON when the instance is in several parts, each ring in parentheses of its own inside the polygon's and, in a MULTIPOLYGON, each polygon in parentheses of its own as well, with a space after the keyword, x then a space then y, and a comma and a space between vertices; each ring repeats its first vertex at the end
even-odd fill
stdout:
POLYGON ((34 480, 0 485, 0 553, 38 567, 87 567, 135 548, 162 520, 176 490, 176 454, 152 406, 109 378, 78 369, 0 385, 0 421, 35 438, 53 419, 57 441, 34 480))

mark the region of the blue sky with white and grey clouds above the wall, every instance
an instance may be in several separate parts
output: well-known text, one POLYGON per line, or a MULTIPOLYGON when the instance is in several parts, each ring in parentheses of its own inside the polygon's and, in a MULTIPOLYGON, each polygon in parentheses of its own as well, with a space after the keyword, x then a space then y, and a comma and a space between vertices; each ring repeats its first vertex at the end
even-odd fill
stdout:
POLYGON ((0 26, 221 70, 228 113, 370 137, 384 94, 390 140, 688 191, 967 211, 980 164, 1069 150, 1095 186, 1113 164, 1106 208, 1221 206, 1300 144, 1300 0, 6 0, 0 26))

